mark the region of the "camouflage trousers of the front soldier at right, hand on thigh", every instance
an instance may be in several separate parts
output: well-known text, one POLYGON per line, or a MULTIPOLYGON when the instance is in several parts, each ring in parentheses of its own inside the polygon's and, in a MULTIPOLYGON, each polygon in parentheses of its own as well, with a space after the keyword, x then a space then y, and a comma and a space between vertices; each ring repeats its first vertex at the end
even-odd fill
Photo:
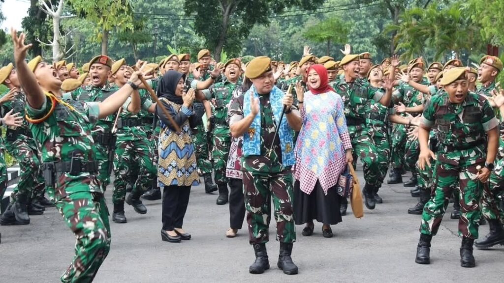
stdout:
POLYGON ((422 213, 420 232, 435 235, 443 220, 449 198, 454 188, 460 193, 459 236, 471 239, 478 238, 481 210, 479 202, 483 192, 483 184, 476 180, 477 164, 463 162, 453 165, 436 161, 434 164, 433 193, 425 204, 422 213))

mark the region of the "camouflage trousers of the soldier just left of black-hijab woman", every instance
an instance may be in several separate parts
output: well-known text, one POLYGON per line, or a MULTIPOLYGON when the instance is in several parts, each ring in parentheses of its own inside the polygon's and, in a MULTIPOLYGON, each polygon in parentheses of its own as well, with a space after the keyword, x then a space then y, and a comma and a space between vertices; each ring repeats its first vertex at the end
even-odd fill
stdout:
POLYGON ((136 181, 133 185, 132 193, 140 195, 152 186, 157 170, 152 162, 154 152, 151 151, 151 142, 145 139, 137 140, 117 140, 114 155, 114 188, 112 191, 112 202, 118 204, 124 202, 126 197, 126 185, 130 181, 130 176, 135 172, 136 181))

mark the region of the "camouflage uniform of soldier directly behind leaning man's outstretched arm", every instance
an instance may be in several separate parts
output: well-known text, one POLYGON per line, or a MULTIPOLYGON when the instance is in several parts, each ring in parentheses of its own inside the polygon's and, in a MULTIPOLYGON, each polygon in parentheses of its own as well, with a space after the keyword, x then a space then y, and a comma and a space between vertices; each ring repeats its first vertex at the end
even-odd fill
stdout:
MULTIPOLYGON (((110 86, 108 84, 101 88, 90 85, 73 91, 72 98, 81 102, 103 102, 117 90, 118 88, 116 86, 110 86)), ((107 185, 110 184, 109 166, 112 166, 112 164, 110 164, 108 160, 108 151, 111 147, 110 140, 112 139, 112 134, 110 130, 112 129, 114 120, 115 115, 109 115, 99 119, 92 130, 93 140, 96 146, 96 160, 98 160, 99 167, 98 179, 100 180, 103 191, 105 191, 107 185)))

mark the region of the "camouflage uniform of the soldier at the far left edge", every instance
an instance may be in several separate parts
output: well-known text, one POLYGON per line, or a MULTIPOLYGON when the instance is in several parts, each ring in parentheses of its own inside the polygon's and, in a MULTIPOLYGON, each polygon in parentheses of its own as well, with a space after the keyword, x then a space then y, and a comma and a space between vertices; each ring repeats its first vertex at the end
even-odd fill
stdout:
MULTIPOLYGON (((6 95, 4 93, 2 96, 6 95)), ((2 105, 4 113, 14 109, 14 113, 25 113, 25 95, 18 92, 13 101, 8 101, 2 105)), ((19 195, 27 198, 39 199, 44 195, 44 179, 40 174, 40 160, 37 147, 32 134, 28 129, 28 122, 23 119, 20 127, 7 128, 5 146, 7 150, 16 158, 21 169, 19 182, 11 194, 11 203, 16 202, 19 195)))

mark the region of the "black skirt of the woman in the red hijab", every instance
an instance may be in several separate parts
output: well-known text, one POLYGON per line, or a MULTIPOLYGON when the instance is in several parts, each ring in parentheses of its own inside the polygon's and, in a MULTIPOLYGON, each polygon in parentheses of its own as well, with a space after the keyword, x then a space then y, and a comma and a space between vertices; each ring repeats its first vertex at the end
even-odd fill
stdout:
POLYGON ((299 182, 294 183, 294 222, 296 225, 317 220, 323 224, 335 225, 341 222, 341 196, 336 185, 327 190, 327 195, 317 181, 310 194, 299 189, 299 182))

